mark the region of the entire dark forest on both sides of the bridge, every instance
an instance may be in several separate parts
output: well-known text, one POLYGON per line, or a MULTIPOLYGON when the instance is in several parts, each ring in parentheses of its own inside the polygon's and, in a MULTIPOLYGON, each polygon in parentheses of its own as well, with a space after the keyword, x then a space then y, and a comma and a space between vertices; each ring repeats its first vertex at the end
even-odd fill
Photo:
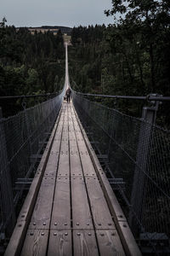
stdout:
MULTIPOLYGON (((71 31, 72 89, 106 95, 170 96, 170 2, 112 0, 112 9, 104 15, 111 15, 113 24, 78 26, 71 31)), ((0 27, 0 95, 61 89, 65 76, 62 33, 31 35, 27 28, 16 31, 5 22, 3 19, 0 27)), ((111 108, 117 104, 116 108, 139 116, 144 102, 105 104, 111 108)), ((160 109, 159 124, 169 128, 169 103, 160 109)))

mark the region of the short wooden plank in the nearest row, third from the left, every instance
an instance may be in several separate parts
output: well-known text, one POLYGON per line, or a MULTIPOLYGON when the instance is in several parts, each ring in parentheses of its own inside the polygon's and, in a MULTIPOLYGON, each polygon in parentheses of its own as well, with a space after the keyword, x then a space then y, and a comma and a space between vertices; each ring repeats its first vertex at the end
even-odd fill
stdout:
POLYGON ((94 230, 73 230, 74 256, 98 256, 94 230))

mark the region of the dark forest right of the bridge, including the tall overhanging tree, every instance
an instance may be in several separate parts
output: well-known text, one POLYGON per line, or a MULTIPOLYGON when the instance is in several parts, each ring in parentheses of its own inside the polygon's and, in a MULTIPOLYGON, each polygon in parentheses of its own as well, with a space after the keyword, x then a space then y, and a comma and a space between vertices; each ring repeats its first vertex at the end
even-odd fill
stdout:
MULTIPOLYGON (((70 73, 74 88, 110 95, 170 96, 169 1, 113 0, 112 5, 106 15, 117 19, 116 14, 122 14, 114 25, 72 30, 70 73)), ((136 111, 133 102, 122 103, 126 106, 127 113, 136 111)), ((166 119, 168 107, 161 108, 166 119)))

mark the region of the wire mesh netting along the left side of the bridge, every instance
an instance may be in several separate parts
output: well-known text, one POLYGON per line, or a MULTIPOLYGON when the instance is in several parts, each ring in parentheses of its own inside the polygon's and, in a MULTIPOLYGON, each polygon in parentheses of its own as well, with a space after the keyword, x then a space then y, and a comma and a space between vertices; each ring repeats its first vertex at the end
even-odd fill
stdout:
POLYGON ((7 119, 0 119, 0 233, 10 236, 20 200, 17 179, 32 177, 36 159, 58 116, 63 93, 7 119), (8 203, 7 203, 8 202, 8 203))

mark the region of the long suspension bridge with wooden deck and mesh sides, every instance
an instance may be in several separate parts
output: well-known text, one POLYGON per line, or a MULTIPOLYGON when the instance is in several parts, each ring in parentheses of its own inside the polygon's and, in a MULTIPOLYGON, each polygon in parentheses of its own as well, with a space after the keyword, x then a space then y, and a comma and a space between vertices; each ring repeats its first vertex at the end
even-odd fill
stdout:
POLYGON ((65 45, 64 90, 0 119, 4 255, 168 254, 170 137, 154 125, 168 97, 136 119, 73 90, 63 102, 69 86, 65 45))

